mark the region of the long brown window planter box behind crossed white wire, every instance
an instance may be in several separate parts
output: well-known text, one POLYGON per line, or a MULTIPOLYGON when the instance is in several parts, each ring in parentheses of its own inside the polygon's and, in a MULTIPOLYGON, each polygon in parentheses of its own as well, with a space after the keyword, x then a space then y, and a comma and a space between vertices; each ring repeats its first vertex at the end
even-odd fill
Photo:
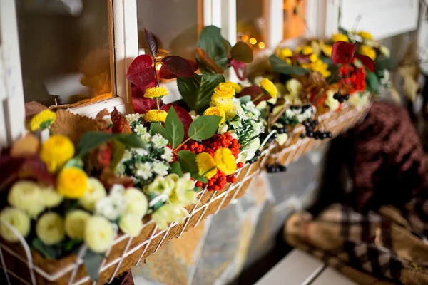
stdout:
MULTIPOLYGON (((370 106, 363 110, 346 107, 340 112, 321 110, 319 120, 335 136, 364 118, 369 109, 370 106)), ((206 189, 200 191, 198 193, 200 203, 187 207, 190 214, 183 224, 173 223, 168 229, 160 230, 153 221, 146 219, 138 237, 132 238, 126 234, 116 237, 113 246, 106 253, 106 259, 101 262, 98 284, 110 283, 115 276, 157 252, 173 237, 181 237, 183 232, 196 227, 202 219, 210 214, 216 214, 223 207, 239 199, 267 163, 276 161, 289 165, 300 155, 327 141, 302 139, 300 138, 302 130, 304 128, 301 125, 294 128, 287 143, 282 147, 275 143, 265 147, 257 162, 246 164, 238 170, 237 181, 233 185, 228 184, 224 190, 218 192, 209 192, 206 189)), ((81 259, 85 250, 86 247, 83 246, 77 255, 73 254, 55 261, 45 259, 38 252, 31 251, 24 239, 20 244, 9 244, 0 240, 0 265, 5 274, 1 277, 0 284, 95 284, 86 274, 81 259)))

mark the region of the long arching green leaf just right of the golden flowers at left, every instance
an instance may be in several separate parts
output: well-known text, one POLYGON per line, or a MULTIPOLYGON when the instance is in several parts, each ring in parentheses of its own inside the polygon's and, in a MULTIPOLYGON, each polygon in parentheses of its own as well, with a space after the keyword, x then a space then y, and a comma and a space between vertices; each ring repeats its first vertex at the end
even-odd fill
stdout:
POLYGON ((108 142, 109 140, 118 140, 126 147, 142 148, 146 143, 135 134, 111 134, 104 132, 88 132, 82 135, 78 142, 76 154, 78 156, 86 155, 98 145, 108 142))

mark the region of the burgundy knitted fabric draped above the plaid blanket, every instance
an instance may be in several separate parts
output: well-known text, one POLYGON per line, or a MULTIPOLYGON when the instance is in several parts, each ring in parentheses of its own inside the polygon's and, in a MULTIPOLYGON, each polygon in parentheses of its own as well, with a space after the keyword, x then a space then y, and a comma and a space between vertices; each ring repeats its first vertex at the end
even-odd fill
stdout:
POLYGON ((402 208, 412 197, 426 196, 424 152, 406 110, 374 103, 347 135, 357 211, 382 204, 402 208))

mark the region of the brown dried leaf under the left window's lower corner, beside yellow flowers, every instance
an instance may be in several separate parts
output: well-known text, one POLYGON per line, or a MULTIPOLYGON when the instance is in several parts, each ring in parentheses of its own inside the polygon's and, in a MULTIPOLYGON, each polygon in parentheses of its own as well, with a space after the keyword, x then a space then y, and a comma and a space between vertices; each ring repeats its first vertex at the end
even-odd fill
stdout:
POLYGON ((98 126, 95 120, 62 109, 56 111, 56 121, 51 125, 52 133, 65 135, 74 145, 78 144, 84 133, 96 130, 98 126))

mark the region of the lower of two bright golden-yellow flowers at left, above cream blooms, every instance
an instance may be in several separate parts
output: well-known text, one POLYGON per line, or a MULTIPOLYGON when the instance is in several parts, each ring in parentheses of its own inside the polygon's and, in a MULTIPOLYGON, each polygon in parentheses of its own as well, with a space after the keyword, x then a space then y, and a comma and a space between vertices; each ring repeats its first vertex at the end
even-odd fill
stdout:
POLYGON ((69 167, 59 172, 56 188, 68 199, 81 198, 88 189, 88 175, 77 167, 69 167))

